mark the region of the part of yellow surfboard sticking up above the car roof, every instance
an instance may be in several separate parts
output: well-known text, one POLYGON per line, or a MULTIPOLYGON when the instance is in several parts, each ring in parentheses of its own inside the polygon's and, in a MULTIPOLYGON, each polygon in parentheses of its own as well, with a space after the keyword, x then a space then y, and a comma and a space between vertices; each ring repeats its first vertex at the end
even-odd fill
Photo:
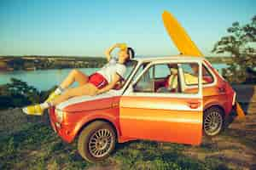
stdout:
POLYGON ((196 47, 195 43, 190 39, 187 32, 172 14, 164 11, 162 18, 166 31, 181 54, 189 56, 203 56, 199 48, 196 47))

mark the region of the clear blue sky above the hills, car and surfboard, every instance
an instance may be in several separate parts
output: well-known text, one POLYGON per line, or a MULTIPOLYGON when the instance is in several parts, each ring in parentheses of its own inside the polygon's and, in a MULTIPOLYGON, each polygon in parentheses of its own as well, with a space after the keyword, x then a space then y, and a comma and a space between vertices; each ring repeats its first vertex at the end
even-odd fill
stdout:
POLYGON ((234 21, 256 14, 255 0, 0 0, 0 55, 102 56, 114 42, 138 55, 177 54, 162 24, 172 12, 204 54, 234 21))

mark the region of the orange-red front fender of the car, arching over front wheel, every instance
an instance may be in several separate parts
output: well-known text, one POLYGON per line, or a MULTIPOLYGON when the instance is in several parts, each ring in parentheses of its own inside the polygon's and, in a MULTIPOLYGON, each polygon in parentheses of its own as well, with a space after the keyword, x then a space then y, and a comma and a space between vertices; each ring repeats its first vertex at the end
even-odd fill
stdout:
MULTIPOLYGON (((86 109, 77 112, 67 112, 67 115, 64 117, 64 121, 61 123, 56 119, 55 108, 50 108, 49 120, 51 126, 55 132, 58 133, 61 139, 67 143, 71 143, 84 126, 96 120, 104 120, 110 122, 116 129, 117 136, 119 136, 119 143, 131 140, 131 138, 124 138, 119 128, 119 99, 120 96, 117 96, 109 99, 100 99, 99 102, 97 100, 93 102, 82 103, 83 108, 86 109), (88 107, 84 107, 84 105, 92 105, 94 108, 98 107, 99 109, 89 110, 88 107), (102 109, 102 107, 104 107, 104 109, 102 109), (58 123, 60 124, 60 127, 56 126, 58 123)), ((81 103, 67 107, 64 111, 70 111, 73 109, 73 107, 76 111, 78 106, 81 106, 81 103)))

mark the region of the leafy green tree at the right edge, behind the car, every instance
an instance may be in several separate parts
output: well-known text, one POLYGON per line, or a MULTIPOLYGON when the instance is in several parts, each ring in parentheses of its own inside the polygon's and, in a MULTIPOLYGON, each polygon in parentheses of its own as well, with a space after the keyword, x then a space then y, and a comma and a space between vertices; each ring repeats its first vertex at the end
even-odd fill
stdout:
POLYGON ((230 54, 233 58, 223 76, 230 82, 255 83, 256 71, 256 15, 250 23, 241 26, 234 22, 227 29, 228 36, 222 37, 215 43, 213 53, 230 54))

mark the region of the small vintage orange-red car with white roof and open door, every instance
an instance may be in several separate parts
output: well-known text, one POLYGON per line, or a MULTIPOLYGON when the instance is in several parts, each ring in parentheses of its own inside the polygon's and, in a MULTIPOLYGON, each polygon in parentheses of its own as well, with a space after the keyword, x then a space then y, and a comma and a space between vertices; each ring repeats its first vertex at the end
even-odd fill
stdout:
POLYGON ((78 138, 79 154, 102 161, 117 142, 148 139, 201 144, 218 134, 236 93, 203 57, 136 58, 108 93, 81 96, 49 109, 61 139, 78 138))

